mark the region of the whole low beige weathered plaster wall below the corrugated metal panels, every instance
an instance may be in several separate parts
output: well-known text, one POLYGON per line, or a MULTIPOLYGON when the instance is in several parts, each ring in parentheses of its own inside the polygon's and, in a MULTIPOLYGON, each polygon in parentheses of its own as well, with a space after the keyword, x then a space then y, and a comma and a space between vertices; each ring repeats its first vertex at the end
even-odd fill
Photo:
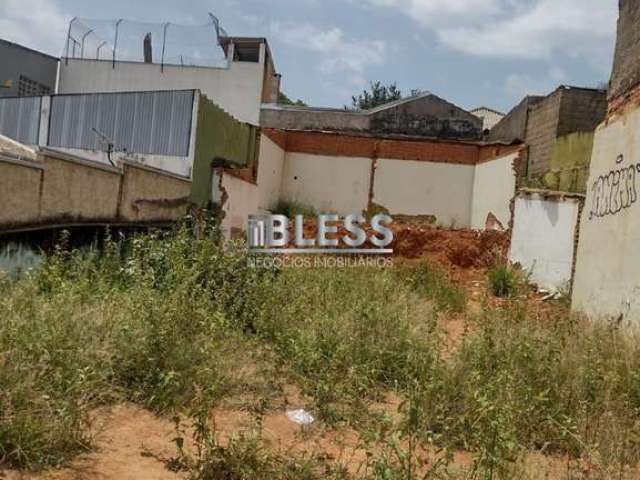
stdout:
POLYGON ((190 190, 190 181, 139 164, 121 170, 51 150, 37 161, 0 155, 0 231, 177 221, 190 190))

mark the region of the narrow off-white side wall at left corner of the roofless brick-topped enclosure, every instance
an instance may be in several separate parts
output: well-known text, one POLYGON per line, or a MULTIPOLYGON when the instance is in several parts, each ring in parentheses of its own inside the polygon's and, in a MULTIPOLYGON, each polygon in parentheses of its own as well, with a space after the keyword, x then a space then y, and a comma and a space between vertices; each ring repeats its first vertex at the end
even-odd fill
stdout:
POLYGON ((258 207, 273 210, 280 200, 285 152, 266 135, 260 137, 258 207))

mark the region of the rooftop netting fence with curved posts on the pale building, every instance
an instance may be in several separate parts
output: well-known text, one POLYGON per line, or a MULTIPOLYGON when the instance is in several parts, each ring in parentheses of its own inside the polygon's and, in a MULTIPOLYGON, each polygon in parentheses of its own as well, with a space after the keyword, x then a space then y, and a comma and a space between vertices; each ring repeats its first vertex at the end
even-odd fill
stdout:
POLYGON ((64 47, 65 60, 146 62, 181 66, 226 66, 218 18, 209 14, 203 25, 138 22, 126 19, 73 18, 64 47))

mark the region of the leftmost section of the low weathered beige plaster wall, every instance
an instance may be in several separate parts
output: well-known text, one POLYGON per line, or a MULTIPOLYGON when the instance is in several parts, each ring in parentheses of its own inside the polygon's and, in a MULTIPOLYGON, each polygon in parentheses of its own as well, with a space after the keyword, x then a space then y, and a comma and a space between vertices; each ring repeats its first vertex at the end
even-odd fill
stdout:
POLYGON ((0 155, 0 228, 38 220, 42 174, 36 162, 0 155))

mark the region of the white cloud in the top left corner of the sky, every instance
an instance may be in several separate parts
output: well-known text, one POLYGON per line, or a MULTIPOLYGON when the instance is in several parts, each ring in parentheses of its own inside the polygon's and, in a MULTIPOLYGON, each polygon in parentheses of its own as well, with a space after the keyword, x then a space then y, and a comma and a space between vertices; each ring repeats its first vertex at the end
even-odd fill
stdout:
POLYGON ((68 19, 52 0, 0 0, 2 38, 59 55, 68 19))

